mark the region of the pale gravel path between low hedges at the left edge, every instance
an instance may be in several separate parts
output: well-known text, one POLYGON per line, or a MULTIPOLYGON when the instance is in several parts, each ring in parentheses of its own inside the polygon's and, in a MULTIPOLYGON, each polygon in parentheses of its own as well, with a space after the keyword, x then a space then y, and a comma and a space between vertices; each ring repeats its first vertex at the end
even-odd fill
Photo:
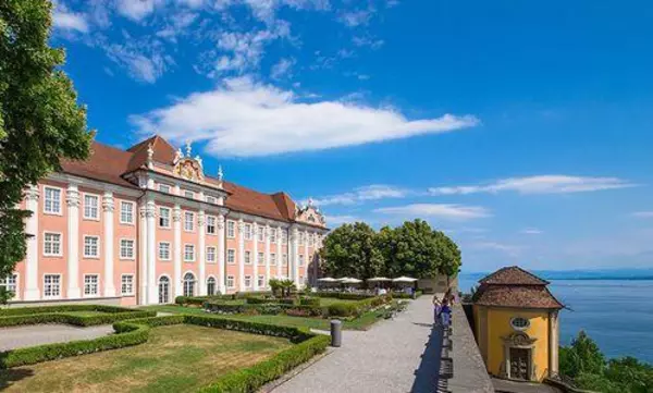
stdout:
POLYGON ((110 324, 77 328, 67 324, 34 324, 0 329, 0 352, 41 344, 90 340, 113 333, 110 324))

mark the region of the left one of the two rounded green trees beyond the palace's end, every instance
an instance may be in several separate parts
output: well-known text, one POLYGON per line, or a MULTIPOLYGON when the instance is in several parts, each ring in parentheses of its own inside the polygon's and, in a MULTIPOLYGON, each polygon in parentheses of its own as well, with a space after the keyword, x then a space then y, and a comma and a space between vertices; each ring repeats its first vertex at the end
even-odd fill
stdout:
POLYGON ((377 234, 368 224, 356 222, 333 230, 324 240, 321 258, 324 272, 333 277, 369 279, 384 270, 377 234))

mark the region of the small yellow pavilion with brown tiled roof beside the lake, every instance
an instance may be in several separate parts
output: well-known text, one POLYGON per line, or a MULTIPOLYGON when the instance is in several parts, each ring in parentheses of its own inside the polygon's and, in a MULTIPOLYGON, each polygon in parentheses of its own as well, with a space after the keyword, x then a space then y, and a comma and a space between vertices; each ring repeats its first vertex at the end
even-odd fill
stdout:
POLYGON ((558 311, 544 281, 519 267, 485 277, 473 296, 476 339, 494 377, 542 381, 558 371, 558 311))

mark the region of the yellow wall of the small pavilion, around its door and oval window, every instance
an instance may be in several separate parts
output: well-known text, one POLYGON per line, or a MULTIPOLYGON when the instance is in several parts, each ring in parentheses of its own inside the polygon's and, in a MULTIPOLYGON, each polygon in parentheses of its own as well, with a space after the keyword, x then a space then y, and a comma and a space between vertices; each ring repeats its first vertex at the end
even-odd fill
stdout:
MULTIPOLYGON (((530 326, 522 332, 531 339, 537 339, 533 358, 535 376, 541 381, 549 369, 549 312, 546 310, 488 308, 488 371, 494 376, 501 374, 501 367, 504 361, 504 340, 502 337, 517 332, 510 326, 510 319, 515 317, 526 318, 530 321, 530 326)), ((482 327, 477 327, 477 329, 480 330, 482 327)))

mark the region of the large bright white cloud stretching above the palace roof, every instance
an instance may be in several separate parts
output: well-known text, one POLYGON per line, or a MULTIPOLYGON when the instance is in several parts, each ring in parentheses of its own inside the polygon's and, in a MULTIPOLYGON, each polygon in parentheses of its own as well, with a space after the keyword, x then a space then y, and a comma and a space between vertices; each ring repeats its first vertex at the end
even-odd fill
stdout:
POLYGON ((251 157, 442 134, 479 123, 473 115, 408 120, 386 109, 341 101, 304 102, 292 90, 226 78, 170 107, 131 118, 141 134, 206 140, 214 156, 251 157))

